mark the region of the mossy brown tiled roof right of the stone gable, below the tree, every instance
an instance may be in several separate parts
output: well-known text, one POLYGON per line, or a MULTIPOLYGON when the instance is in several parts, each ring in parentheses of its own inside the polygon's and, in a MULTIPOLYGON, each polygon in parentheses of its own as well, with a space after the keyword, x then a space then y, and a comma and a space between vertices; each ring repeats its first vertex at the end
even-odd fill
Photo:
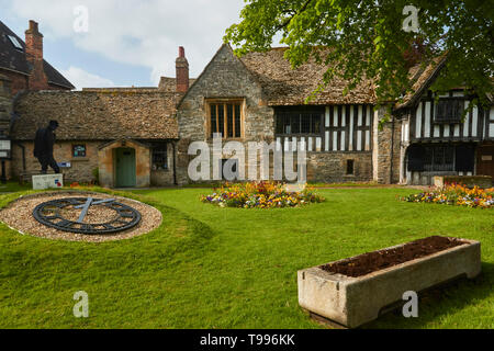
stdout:
MULTIPOLYGON (((249 53, 240 58, 256 76, 268 98, 269 105, 301 105, 323 81, 327 67, 310 60, 292 69, 284 58, 287 47, 272 48, 265 53, 249 53)), ((371 80, 363 80, 348 94, 344 89, 348 82, 335 78, 321 93, 311 100, 311 104, 366 104, 374 103, 375 94, 371 80)))

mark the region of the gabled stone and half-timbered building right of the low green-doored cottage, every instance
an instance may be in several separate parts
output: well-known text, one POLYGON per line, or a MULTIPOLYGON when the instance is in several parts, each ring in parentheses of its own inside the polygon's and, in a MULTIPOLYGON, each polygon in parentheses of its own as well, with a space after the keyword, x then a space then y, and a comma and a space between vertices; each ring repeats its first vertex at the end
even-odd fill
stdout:
MULTIPOLYGON (((463 97, 459 89, 436 102, 428 90, 445 58, 413 67, 414 92, 392 106, 389 122, 380 123, 386 109, 374 109, 374 87, 368 80, 344 95, 347 83, 335 79, 305 103, 326 69, 314 61, 292 69, 284 50, 238 58, 228 45, 220 48, 178 105, 179 183, 190 182, 190 143, 211 143, 213 133, 224 141, 277 140, 283 149, 307 150, 308 181, 430 184, 433 176, 494 176, 494 110, 475 107, 463 123, 450 106, 463 107, 474 97, 463 97), (422 124, 417 114, 425 118, 422 124), (415 125, 425 133, 416 134, 415 125), (416 149, 425 150, 418 160, 416 149)), ((249 168, 257 156, 247 157, 249 168)), ((222 155, 231 158, 235 156, 222 155)))

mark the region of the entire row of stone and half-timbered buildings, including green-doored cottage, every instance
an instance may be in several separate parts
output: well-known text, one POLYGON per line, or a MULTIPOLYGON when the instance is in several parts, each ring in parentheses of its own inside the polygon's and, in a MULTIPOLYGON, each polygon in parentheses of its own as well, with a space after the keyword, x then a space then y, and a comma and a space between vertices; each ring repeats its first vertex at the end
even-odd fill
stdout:
MULTIPOLYGON (((190 79, 180 47, 176 78, 162 77, 157 88, 27 91, 10 104, 3 99, 3 110, 16 116, 10 126, 11 173, 36 172, 35 131, 57 120, 55 158, 68 182, 191 183, 188 169, 195 156, 189 146, 211 145, 213 134, 245 149, 249 141, 276 141, 283 150, 306 150, 308 181, 430 184, 438 174, 494 176, 494 109, 475 107, 462 120, 459 111, 474 95, 457 89, 436 100, 429 87, 444 58, 411 69, 413 92, 393 103, 391 118, 381 123, 390 106, 375 109, 372 81, 364 79, 344 94, 347 82, 335 79, 307 102, 326 68, 310 61, 292 69, 284 50, 239 58, 222 45, 190 79)), ((247 155, 246 174, 260 176, 254 168, 258 160, 257 152, 247 155)), ((225 151, 220 166, 228 161, 242 163, 225 151)))

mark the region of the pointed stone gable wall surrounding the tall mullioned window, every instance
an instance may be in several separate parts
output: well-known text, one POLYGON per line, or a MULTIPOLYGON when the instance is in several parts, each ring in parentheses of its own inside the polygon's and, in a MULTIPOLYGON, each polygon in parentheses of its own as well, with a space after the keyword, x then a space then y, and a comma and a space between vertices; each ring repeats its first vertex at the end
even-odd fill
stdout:
POLYGON ((244 100, 244 136, 242 143, 272 141, 274 134, 273 110, 266 103, 261 87, 244 64, 224 45, 204 72, 189 89, 177 116, 180 141, 177 149, 177 181, 189 183, 187 155, 189 144, 209 140, 206 131, 206 99, 244 100))

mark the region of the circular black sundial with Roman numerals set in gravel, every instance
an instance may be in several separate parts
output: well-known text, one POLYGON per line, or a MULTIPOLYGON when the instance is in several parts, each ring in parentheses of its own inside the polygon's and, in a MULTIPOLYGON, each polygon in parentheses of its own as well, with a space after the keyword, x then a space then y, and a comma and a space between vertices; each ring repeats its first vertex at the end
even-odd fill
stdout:
POLYGON ((65 197, 37 205, 33 216, 45 226, 77 234, 110 234, 134 227, 141 213, 115 199, 65 197))

